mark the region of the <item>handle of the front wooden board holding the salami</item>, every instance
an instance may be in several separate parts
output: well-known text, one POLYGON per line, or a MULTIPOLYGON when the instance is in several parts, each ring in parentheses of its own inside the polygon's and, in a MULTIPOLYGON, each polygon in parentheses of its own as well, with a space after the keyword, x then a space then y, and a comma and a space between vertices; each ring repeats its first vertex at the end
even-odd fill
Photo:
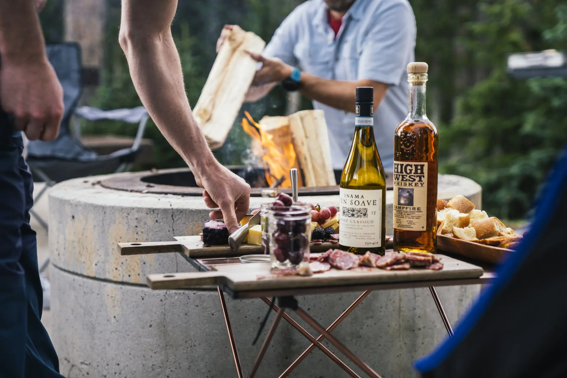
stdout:
POLYGON ((149 274, 147 276, 147 286, 153 290, 217 286, 223 278, 225 276, 218 271, 149 274))

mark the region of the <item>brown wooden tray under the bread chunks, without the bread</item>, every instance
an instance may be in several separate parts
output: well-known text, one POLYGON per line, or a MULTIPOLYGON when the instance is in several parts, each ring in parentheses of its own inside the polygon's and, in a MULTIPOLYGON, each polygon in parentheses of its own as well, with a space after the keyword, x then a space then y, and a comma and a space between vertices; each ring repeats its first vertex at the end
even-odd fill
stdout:
POLYGON ((498 264, 510 252, 514 252, 507 248, 492 247, 491 245, 474 243, 473 241, 456 239, 455 237, 445 235, 437 235, 437 248, 492 264, 498 264))

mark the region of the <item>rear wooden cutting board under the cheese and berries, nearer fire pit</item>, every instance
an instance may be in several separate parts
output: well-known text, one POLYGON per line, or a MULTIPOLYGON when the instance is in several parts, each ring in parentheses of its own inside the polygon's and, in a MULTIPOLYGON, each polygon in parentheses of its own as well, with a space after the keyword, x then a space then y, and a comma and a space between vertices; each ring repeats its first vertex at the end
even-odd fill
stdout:
MULTIPOLYGON (((241 244, 238 250, 232 250, 228 245, 211 245, 205 247, 201 236, 175 236, 175 241, 157 241, 146 243, 118 243, 118 251, 122 256, 149 253, 179 252, 191 258, 242 256, 243 254, 261 254, 262 246, 241 244)), ((390 242, 391 243, 391 242, 390 242)), ((324 252, 329 248, 337 248, 337 244, 311 244, 311 252, 324 252)), ((386 248, 388 243, 386 243, 386 248)), ((391 247, 390 247, 391 248, 391 247)))

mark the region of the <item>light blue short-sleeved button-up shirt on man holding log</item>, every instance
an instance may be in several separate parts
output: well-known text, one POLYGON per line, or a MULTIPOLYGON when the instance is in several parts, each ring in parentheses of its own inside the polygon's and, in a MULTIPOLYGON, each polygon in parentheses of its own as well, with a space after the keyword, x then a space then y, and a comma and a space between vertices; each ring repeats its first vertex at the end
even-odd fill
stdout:
MULTIPOLYGON (((406 66, 414 60, 415 44, 416 21, 407 0, 356 0, 336 37, 324 1, 309 0, 287 16, 263 55, 320 78, 390 84, 374 112, 374 135, 384 169, 391 171, 393 134, 408 111, 406 66)), ((333 168, 342 169, 352 143, 354 113, 318 101, 313 106, 325 112, 333 168)))

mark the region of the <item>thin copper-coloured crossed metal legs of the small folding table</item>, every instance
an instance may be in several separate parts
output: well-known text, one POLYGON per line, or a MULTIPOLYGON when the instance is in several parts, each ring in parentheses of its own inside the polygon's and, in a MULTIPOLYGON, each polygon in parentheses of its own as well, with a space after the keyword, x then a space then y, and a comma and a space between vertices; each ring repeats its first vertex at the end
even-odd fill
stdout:
MULTIPOLYGON (((433 296, 433 300, 435 301, 435 305, 437 305, 439 315, 441 315, 441 318, 443 320, 443 324, 445 325, 447 333, 450 337, 452 337, 453 332, 452 332, 452 329, 451 329, 451 324, 448 321, 447 316, 445 314, 445 311, 443 310, 443 306, 441 305, 441 301, 439 300, 439 297, 437 296, 437 291, 435 291, 435 287, 433 287, 433 286, 429 287, 429 290, 431 292, 431 295, 433 296)), ((309 347, 307 347, 307 349, 305 351, 303 351, 303 353, 284 371, 284 373, 282 373, 282 375, 280 375, 280 378, 288 376, 291 373, 291 371, 293 371, 293 369, 295 367, 297 367, 299 365, 299 363, 301 363, 312 350, 315 349, 315 347, 318 347, 321 351, 323 351, 329 358, 331 358, 333 360, 333 362, 335 362, 340 368, 342 368, 350 376, 355 377, 355 378, 360 378, 360 376, 357 375, 357 373, 352 371, 352 369, 350 369, 348 366, 346 366, 346 364, 344 362, 342 362, 340 359, 338 359, 335 354, 333 354, 331 351, 329 351, 325 346, 323 346, 320 343, 325 338, 327 338, 329 342, 331 342, 335 347, 337 347, 337 349, 340 350, 342 352, 342 354, 344 354, 353 363, 355 363, 359 368, 361 368, 362 371, 365 372, 369 377, 381 378, 378 375, 378 373, 376 373, 373 369, 371 369, 365 362, 363 362, 361 359, 359 359, 352 351, 350 351, 346 346, 344 346, 340 341, 338 341, 330 333, 333 329, 336 328, 336 326, 342 320, 344 320, 350 314, 350 312, 353 311, 354 308, 357 307, 357 305, 362 303, 362 301, 370 294, 370 292, 371 291, 369 291, 369 290, 366 290, 365 292, 363 292, 357 298, 357 300, 355 300, 327 329, 324 329, 314 318, 312 318, 310 315, 308 315, 308 313, 303 311, 302 308, 298 307, 297 300, 295 300, 295 298, 293 298, 293 297, 278 298, 283 303, 283 305, 281 305, 281 307, 278 307, 278 305, 273 303, 268 298, 265 298, 265 297, 261 298, 261 300, 263 300, 266 304, 268 304, 268 306, 270 308, 272 308, 274 311, 277 312, 277 315, 276 315, 276 318, 274 319, 274 321, 272 322, 272 326, 270 326, 270 329, 268 331, 268 334, 266 335, 266 338, 264 339, 264 342, 263 342, 263 344, 260 348, 260 352, 259 352, 259 354, 256 358, 256 362, 254 363, 254 366, 252 367, 252 371, 250 372, 249 378, 252 378, 256 374, 256 371, 259 368, 260 363, 262 362, 262 359, 264 358, 264 355, 265 355, 266 350, 268 349, 269 343, 272 340, 274 333, 276 333, 277 326, 280 324, 280 321, 281 321, 282 318, 284 318, 291 326, 293 326, 295 329, 297 329, 299 331, 299 333, 303 334, 309 341, 311 341, 311 345, 309 347), (319 337, 315 339, 301 325, 297 324, 297 322, 295 322, 289 315, 287 315, 285 313, 285 307, 293 309, 299 317, 301 317, 304 321, 306 321, 309 325, 311 325, 319 333, 321 333, 319 335, 319 337)), ((240 360, 238 358, 238 351, 236 350, 236 343, 234 341, 234 335, 232 334, 232 329, 231 329, 231 326, 230 326, 229 314, 228 314, 227 309, 226 309, 225 298, 223 296, 223 293, 222 293, 220 287, 218 287, 218 294, 219 294, 219 297, 221 299, 223 314, 225 316, 227 331, 229 333, 232 355, 234 356, 234 362, 236 364, 236 372, 238 373, 239 378, 243 378, 242 368, 240 367, 240 360)), ((280 304, 282 304, 282 303, 280 303, 280 304)))

